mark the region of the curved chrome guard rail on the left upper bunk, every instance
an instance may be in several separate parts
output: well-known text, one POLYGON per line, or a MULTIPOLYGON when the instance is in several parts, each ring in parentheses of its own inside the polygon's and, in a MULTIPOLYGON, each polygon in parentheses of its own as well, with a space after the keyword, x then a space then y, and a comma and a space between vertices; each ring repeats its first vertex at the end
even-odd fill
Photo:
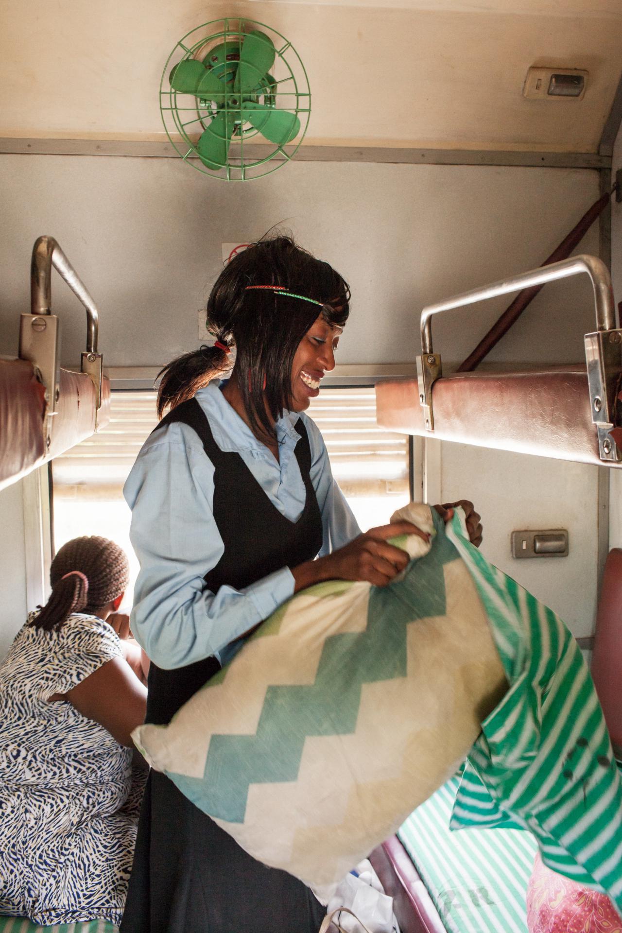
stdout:
POLYGON ((31 313, 51 313, 52 266, 84 305, 87 312, 87 353, 96 354, 99 333, 97 305, 61 247, 51 236, 40 236, 33 246, 30 266, 31 313))

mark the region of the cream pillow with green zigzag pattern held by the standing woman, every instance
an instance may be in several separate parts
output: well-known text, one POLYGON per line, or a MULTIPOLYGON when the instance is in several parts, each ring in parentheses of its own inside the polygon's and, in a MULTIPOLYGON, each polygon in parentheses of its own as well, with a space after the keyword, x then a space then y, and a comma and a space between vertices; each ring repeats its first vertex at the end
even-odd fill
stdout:
MULTIPOLYGON (((415 518, 434 527, 427 507, 415 518)), ((168 727, 134 732, 150 763, 247 852, 326 899, 455 772, 482 705, 505 690, 440 520, 425 550, 390 587, 333 581, 298 593, 168 727)))

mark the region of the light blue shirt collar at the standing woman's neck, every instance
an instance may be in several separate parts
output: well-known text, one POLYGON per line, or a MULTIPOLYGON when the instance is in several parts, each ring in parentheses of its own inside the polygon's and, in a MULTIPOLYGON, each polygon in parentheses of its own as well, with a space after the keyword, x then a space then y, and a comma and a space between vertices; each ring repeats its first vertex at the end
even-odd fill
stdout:
MULTIPOLYGON (((256 439, 250 427, 232 408, 222 394, 226 380, 213 379, 208 385, 199 389, 196 399, 204 414, 209 418, 214 440, 221 451, 234 452, 256 451, 265 453, 266 445, 256 439)), ((300 439, 294 425, 299 415, 296 411, 283 411, 283 417, 276 422, 276 438, 280 444, 289 440, 292 448, 300 439)))

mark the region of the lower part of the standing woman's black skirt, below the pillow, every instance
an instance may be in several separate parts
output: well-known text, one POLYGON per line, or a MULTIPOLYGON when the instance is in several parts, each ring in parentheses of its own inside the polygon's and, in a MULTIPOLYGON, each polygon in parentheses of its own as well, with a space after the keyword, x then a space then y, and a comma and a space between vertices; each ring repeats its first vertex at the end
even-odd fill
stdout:
POLYGON ((149 775, 121 933, 317 933, 325 907, 149 775))

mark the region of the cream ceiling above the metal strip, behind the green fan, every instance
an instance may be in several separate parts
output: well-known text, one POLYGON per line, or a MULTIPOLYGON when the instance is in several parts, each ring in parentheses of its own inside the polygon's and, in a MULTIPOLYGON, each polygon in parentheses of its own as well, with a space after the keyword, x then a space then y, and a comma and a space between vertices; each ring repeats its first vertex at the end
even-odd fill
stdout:
POLYGON ((169 52, 224 15, 291 40, 317 145, 595 152, 622 67, 622 0, 3 0, 0 136, 165 138, 169 52), (532 64, 587 69, 585 99, 525 100, 532 64))

